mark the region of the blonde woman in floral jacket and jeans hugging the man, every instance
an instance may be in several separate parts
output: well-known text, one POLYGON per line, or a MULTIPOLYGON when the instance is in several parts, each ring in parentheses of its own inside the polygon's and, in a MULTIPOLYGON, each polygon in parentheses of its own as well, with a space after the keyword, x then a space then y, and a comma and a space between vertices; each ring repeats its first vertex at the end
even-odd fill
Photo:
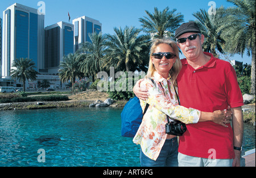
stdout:
POLYGON ((229 123, 225 121, 227 115, 224 111, 201 112, 179 105, 175 92, 175 80, 180 70, 179 48, 175 42, 154 40, 147 78, 153 79, 155 84, 150 79, 143 80, 141 83, 141 87, 146 87, 149 94, 146 101, 140 100, 141 107, 144 110, 146 103, 150 106, 133 139, 134 143, 141 145, 141 166, 178 166, 177 137, 166 134, 167 115, 185 124, 201 121, 229 123))

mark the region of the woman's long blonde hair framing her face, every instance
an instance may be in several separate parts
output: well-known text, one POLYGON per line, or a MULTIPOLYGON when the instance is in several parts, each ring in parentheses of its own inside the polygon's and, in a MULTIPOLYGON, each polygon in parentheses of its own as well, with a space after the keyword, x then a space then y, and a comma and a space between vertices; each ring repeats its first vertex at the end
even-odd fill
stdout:
POLYGON ((150 49, 150 61, 148 65, 147 78, 152 77, 154 75, 154 72, 156 71, 155 66, 151 60, 152 54, 155 52, 156 47, 160 44, 168 44, 169 46, 171 46, 172 50, 174 50, 174 54, 176 55, 176 61, 172 66, 172 69, 170 70, 169 74, 175 86, 177 86, 176 84, 177 75, 179 74, 182 67, 180 57, 179 57, 179 48, 177 44, 175 43, 175 41, 167 40, 167 39, 155 39, 155 40, 152 40, 151 43, 152 43, 152 46, 150 49))

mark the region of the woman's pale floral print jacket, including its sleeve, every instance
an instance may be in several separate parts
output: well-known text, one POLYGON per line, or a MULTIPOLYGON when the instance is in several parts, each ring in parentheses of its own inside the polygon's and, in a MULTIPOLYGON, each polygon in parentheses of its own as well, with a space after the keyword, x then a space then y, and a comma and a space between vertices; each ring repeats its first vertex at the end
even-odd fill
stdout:
POLYGON ((156 160, 167 137, 165 132, 166 115, 185 124, 192 124, 199 121, 201 112, 179 105, 171 78, 164 79, 155 71, 152 79, 155 81, 156 87, 150 79, 143 80, 141 83, 141 87, 146 87, 149 94, 146 101, 140 100, 142 110, 144 111, 147 103, 150 106, 143 116, 141 126, 139 126, 133 142, 141 145, 143 153, 148 158, 156 160), (170 83, 171 94, 168 91, 167 81, 170 83))

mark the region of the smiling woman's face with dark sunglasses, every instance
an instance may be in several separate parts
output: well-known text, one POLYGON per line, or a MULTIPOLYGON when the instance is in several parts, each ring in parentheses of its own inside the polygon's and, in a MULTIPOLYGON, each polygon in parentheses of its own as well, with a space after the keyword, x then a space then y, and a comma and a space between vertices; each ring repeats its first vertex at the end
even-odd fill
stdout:
POLYGON ((158 73, 162 75, 162 77, 168 78, 169 71, 171 70, 172 66, 176 61, 176 56, 172 56, 172 54, 174 54, 174 50, 170 45, 162 43, 156 46, 153 54, 157 54, 157 53, 159 54, 166 53, 166 55, 162 55, 162 58, 160 59, 159 57, 156 58, 157 56, 152 55, 151 56, 152 63, 154 64, 156 71, 158 71, 158 73))

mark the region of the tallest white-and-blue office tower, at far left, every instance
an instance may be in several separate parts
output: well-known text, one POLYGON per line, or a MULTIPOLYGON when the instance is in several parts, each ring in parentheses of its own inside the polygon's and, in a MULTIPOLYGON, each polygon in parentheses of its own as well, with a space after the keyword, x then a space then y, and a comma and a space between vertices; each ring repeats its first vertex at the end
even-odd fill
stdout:
POLYGON ((15 59, 28 58, 43 69, 44 14, 14 3, 3 11, 2 77, 10 78, 15 59))

